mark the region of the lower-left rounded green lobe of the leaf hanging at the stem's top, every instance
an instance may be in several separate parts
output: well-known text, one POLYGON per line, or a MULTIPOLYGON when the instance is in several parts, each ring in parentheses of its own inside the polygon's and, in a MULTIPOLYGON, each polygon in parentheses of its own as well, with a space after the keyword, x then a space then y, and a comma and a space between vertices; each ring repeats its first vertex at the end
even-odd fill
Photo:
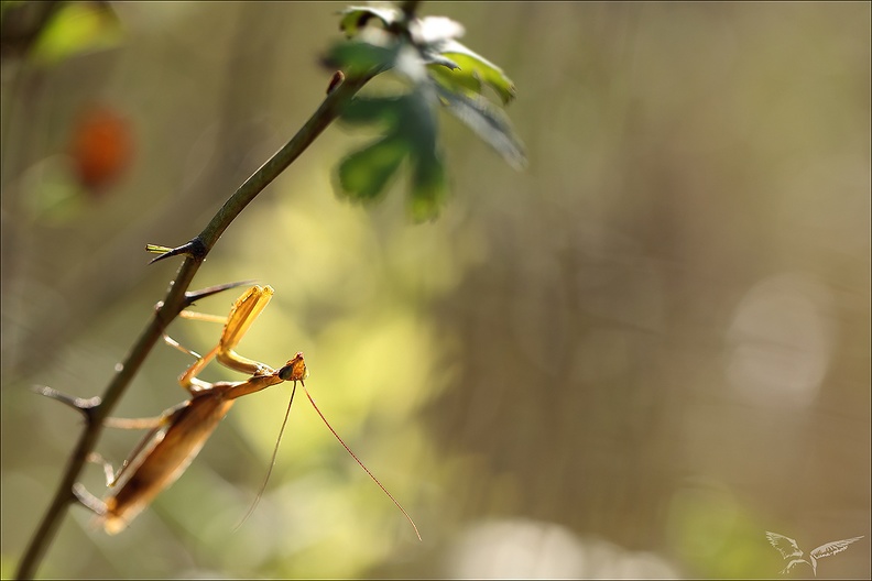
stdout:
POLYGON ((340 193, 352 200, 372 201, 380 197, 396 174, 408 149, 395 134, 371 143, 339 163, 340 193))

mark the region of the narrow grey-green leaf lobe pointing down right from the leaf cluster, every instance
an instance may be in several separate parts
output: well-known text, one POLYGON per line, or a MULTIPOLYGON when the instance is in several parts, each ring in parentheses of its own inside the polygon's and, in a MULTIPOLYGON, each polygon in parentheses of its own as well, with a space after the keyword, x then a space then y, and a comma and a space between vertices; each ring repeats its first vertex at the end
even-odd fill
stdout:
POLYGON ((502 111, 491 107, 484 99, 469 98, 440 86, 437 86, 437 90, 448 111, 493 147, 509 165, 515 169, 526 166, 524 145, 502 111))

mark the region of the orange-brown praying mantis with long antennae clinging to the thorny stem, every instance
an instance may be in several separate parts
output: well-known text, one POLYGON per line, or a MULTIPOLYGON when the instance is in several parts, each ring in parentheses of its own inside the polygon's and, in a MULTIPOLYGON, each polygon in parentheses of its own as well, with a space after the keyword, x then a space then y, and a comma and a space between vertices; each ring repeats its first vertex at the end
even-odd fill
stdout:
MULTIPOLYGON (((209 439, 209 436, 211 436, 218 423, 233 406, 236 399, 244 395, 260 392, 266 387, 292 381, 294 382, 294 388, 291 393, 291 403, 293 403, 294 393, 296 393, 296 383, 299 382, 313 407, 333 435, 388 497, 393 501, 396 507, 400 508, 415 529, 415 535, 418 540, 421 540, 417 526, 415 526, 408 513, 405 512, 372 472, 363 465, 363 462, 358 459, 355 452, 346 446, 336 430, 334 430, 324 417, 320 409, 318 409, 317 405, 315 405, 315 401, 305 386, 305 380, 308 377, 308 370, 306 369, 303 353, 296 353, 293 359, 288 360, 283 366, 276 370, 264 363, 244 358, 236 352, 235 349, 237 344, 254 322, 254 319, 257 319, 270 303, 273 293, 273 288, 269 285, 254 285, 242 293, 233 303, 230 314, 227 316, 218 344, 205 355, 197 355, 197 353, 181 347, 168 336, 164 336, 167 343, 197 357, 197 361, 178 377, 178 382, 182 384, 182 387, 187 390, 190 398, 166 409, 163 414, 154 418, 107 419, 105 424, 107 427, 149 429, 150 431, 133 449, 133 452, 130 454, 129 459, 124 461, 117 475, 112 475, 111 467, 105 464, 107 485, 110 487, 110 492, 103 500, 99 500, 91 495, 79 484, 77 484, 73 491, 81 504, 98 515, 98 523, 102 525, 106 533, 115 535, 127 528, 130 522, 145 509, 157 494, 173 484, 185 472, 206 443, 206 440, 209 439), (219 363, 229 369, 250 374, 251 377, 247 381, 215 383, 208 383, 197 379, 197 374, 212 359, 216 359, 219 363)), ((183 311, 183 316, 193 319, 221 320, 220 318, 210 317, 208 315, 188 311, 183 311)), ((43 393, 44 395, 50 395, 63 401, 62 397, 55 395, 56 392, 48 392, 54 391, 48 390, 43 393)), ((291 410, 291 404, 288 404, 287 409, 288 412, 291 410)), ((287 415, 285 415, 285 421, 286 420, 287 415)), ((284 430, 284 424, 282 425, 282 430, 284 430)), ((273 460, 274 458, 275 454, 273 454, 273 460)), ((252 505, 252 509, 253 508, 254 506, 252 505)))

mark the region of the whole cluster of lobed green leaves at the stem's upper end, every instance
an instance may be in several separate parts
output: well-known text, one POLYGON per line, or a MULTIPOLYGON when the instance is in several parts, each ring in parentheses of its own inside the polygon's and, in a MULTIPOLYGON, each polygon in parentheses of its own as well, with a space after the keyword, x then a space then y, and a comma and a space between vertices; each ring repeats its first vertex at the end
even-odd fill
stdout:
POLYGON ((421 222, 436 218, 447 197, 436 107, 447 105, 515 168, 525 162, 523 146, 508 121, 481 95, 484 85, 506 105, 514 85, 495 65, 455 40, 464 29, 444 17, 403 24, 399 9, 349 8, 340 29, 351 43, 337 43, 326 62, 348 75, 396 72, 411 88, 390 97, 357 97, 342 112, 352 124, 375 124, 383 135, 346 156, 337 172, 337 190, 358 201, 381 199, 391 178, 408 157, 410 213, 421 222), (367 25, 380 21, 381 28, 367 25), (462 65, 458 64, 462 63, 462 65))

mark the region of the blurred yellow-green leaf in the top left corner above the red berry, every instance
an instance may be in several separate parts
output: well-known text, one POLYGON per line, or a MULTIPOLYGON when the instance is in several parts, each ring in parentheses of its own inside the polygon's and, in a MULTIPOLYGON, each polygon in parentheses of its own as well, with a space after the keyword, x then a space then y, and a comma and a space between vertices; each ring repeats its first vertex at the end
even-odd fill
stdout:
POLYGON ((35 63, 53 65, 70 56, 121 43, 123 30, 103 4, 69 2, 46 24, 31 53, 35 63))

